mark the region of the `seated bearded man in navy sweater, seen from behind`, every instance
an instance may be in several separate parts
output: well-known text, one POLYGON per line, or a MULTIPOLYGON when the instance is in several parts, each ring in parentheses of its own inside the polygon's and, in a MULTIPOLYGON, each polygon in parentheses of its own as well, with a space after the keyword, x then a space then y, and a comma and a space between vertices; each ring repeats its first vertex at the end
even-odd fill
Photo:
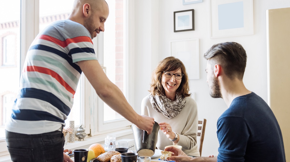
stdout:
POLYGON ((170 160, 188 161, 263 161, 284 162, 282 133, 272 110, 242 81, 247 54, 235 42, 213 45, 205 54, 206 73, 213 98, 223 98, 228 109, 218 119, 218 157, 188 157, 180 149, 170 160))

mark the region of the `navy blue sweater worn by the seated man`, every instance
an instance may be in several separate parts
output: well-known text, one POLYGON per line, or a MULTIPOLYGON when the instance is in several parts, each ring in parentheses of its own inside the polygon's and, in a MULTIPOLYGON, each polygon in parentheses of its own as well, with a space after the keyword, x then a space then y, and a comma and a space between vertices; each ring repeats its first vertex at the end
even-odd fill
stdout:
POLYGON ((272 110, 255 93, 235 98, 218 119, 218 162, 285 162, 282 133, 272 110))

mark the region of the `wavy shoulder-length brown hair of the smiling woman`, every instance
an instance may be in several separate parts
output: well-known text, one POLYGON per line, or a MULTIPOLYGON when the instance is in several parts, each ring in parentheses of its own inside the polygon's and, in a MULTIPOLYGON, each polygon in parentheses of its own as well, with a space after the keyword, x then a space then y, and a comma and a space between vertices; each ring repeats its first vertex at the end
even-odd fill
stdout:
MULTIPOLYGON (((184 76, 181 78, 180 86, 177 88, 176 92, 182 95, 182 97, 188 97, 189 94, 189 80, 186 73, 186 69, 184 64, 180 61, 180 59, 177 59, 173 56, 166 57, 162 61, 159 62, 156 69, 153 71, 151 76, 151 87, 149 92, 152 95, 160 95, 163 93, 165 95, 165 90, 162 86, 161 80, 163 71, 175 71, 181 69, 181 73, 184 74, 184 76)), ((174 76, 173 76, 174 77, 174 76)))

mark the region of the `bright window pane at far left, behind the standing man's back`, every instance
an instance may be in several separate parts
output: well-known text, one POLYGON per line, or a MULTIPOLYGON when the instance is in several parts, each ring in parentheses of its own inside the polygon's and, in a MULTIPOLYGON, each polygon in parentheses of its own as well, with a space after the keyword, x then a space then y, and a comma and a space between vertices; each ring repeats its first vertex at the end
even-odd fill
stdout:
POLYGON ((1 139, 5 138, 6 120, 11 115, 12 104, 19 90, 20 1, 18 0, 0 1, 0 75, 1 142, 1 139), (15 8, 13 12, 7 7, 11 4, 15 8))

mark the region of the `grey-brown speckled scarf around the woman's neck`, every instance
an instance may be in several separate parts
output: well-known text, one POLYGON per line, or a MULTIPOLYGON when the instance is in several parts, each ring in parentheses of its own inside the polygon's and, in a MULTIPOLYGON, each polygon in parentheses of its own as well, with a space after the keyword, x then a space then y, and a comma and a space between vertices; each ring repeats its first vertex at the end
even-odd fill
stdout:
POLYGON ((179 114, 182 108, 184 108, 186 101, 186 97, 183 98, 182 95, 178 95, 177 93, 175 101, 171 101, 171 99, 168 99, 163 93, 161 93, 160 96, 153 96, 150 94, 149 99, 154 110, 156 112, 162 112, 168 119, 179 114))

